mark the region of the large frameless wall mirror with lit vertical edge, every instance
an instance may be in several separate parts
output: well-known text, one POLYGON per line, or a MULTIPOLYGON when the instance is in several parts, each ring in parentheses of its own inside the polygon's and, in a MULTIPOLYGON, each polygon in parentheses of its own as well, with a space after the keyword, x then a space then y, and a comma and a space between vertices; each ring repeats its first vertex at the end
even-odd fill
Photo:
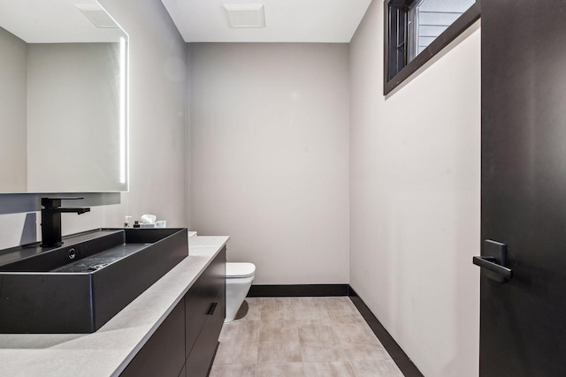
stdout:
POLYGON ((127 190, 127 43, 96 0, 0 0, 0 192, 127 190))

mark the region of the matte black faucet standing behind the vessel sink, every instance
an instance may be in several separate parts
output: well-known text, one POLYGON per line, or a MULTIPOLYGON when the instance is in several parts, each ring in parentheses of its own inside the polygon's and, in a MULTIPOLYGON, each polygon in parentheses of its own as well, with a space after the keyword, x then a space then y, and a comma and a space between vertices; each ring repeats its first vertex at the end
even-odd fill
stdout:
POLYGON ((60 246, 61 241, 61 214, 73 212, 84 214, 90 208, 61 208, 61 200, 78 200, 83 198, 42 198, 42 246, 60 246))

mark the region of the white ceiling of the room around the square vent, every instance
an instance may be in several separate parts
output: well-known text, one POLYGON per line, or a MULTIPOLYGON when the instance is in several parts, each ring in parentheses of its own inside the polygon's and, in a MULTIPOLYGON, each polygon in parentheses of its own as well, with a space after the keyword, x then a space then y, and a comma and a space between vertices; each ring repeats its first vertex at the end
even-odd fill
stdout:
POLYGON ((347 43, 371 0, 161 0, 187 42, 347 43), (231 28, 224 4, 264 4, 265 28, 231 28))

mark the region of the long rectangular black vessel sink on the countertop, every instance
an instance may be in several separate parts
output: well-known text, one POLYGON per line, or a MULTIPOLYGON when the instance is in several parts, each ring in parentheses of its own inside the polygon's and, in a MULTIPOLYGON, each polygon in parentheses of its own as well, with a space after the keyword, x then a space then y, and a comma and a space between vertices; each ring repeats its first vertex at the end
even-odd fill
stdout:
POLYGON ((0 333, 92 333, 188 255, 187 229, 99 229, 0 252, 0 333))

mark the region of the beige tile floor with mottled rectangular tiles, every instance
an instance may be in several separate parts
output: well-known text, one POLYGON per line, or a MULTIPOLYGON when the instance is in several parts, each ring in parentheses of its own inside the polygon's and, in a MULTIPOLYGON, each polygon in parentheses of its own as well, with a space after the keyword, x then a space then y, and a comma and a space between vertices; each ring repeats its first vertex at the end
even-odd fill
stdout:
POLYGON ((347 297, 246 298, 210 377, 402 377, 347 297))

